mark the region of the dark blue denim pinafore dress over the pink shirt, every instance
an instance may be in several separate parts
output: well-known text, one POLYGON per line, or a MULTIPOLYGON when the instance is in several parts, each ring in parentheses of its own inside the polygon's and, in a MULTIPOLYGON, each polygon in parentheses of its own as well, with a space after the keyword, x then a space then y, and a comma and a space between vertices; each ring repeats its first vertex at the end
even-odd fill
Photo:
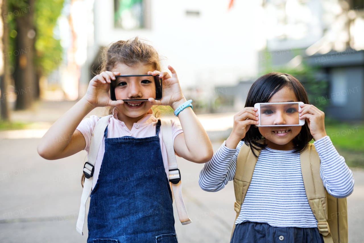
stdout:
POLYGON ((105 138, 99 178, 90 195, 87 243, 177 242, 160 126, 158 121, 156 136, 148 138, 105 138))

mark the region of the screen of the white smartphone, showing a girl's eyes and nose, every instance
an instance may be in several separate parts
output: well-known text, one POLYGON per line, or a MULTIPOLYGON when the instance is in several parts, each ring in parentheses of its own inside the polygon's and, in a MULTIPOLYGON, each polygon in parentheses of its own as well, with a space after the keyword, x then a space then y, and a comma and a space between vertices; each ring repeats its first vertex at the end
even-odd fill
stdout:
POLYGON ((298 125, 300 124, 298 103, 260 104, 261 125, 298 125))

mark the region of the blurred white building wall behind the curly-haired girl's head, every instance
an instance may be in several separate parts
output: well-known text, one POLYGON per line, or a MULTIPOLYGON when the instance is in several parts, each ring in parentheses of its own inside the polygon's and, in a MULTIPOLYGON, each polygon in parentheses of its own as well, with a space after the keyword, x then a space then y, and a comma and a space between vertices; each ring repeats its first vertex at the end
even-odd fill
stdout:
POLYGON ((164 69, 173 66, 182 87, 231 85, 257 76, 259 1, 235 0, 230 11, 229 0, 150 1, 151 29, 126 31, 114 28, 114 1, 95 0, 93 49, 139 35, 167 58, 164 69), (188 17, 186 10, 200 16, 188 17))

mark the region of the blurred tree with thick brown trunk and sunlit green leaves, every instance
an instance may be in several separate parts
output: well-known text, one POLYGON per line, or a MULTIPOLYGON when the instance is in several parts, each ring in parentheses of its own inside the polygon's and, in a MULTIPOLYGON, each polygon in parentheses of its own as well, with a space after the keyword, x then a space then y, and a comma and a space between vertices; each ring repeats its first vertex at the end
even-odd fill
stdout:
POLYGON ((29 108, 39 98, 40 78, 59 65, 62 47, 53 30, 62 8, 63 0, 8 0, 8 59, 19 94, 16 109, 29 108))

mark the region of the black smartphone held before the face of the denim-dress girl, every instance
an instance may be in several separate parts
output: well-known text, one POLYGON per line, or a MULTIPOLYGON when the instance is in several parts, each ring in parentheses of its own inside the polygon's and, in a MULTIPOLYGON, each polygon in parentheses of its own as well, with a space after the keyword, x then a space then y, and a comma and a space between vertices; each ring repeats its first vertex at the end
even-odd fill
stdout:
POLYGON ((111 100, 162 99, 162 78, 159 75, 115 75, 110 83, 111 100))

